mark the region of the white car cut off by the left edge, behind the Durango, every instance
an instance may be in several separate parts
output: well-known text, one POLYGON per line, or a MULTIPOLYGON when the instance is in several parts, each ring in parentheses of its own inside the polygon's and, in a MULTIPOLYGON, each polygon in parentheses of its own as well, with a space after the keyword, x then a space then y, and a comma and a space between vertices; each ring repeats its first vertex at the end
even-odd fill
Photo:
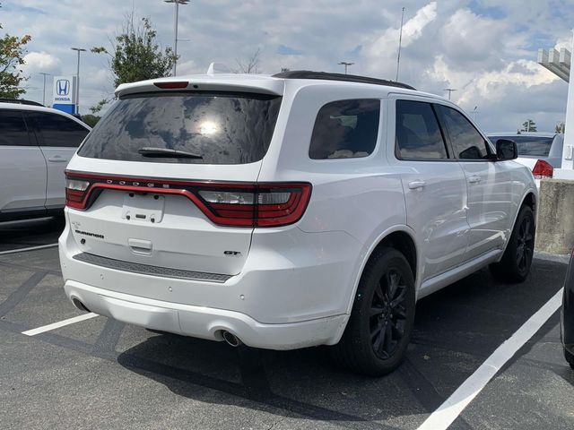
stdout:
POLYGON ((27 100, 0 100, 0 221, 62 213, 67 162, 90 127, 27 100))

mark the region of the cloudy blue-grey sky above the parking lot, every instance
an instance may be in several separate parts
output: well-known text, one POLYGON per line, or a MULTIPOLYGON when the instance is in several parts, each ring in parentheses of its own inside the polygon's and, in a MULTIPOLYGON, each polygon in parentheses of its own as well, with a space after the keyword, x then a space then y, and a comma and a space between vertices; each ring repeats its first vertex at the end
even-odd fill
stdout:
MULTIPOLYGON (((574 0, 191 0, 179 7, 178 75, 213 62, 237 68, 260 50, 259 73, 344 72, 396 80, 452 100, 485 132, 516 131, 531 118, 539 131, 563 121, 568 84, 536 63, 539 47, 572 49, 574 0)), ((162 0, 2 1, 0 23, 30 34, 26 99, 42 100, 42 75, 74 74, 81 57, 80 109, 113 94, 105 55, 126 16, 149 17, 162 47, 173 43, 173 4, 162 0)), ((46 99, 51 100, 52 76, 46 99)))

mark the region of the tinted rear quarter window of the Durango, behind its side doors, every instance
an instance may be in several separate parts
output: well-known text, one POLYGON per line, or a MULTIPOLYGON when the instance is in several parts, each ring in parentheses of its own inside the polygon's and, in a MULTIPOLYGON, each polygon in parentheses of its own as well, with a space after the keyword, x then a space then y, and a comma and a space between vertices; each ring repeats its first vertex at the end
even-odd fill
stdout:
POLYGON ((327 103, 317 113, 309 157, 353 159, 367 157, 378 136, 379 99, 339 100, 327 103))

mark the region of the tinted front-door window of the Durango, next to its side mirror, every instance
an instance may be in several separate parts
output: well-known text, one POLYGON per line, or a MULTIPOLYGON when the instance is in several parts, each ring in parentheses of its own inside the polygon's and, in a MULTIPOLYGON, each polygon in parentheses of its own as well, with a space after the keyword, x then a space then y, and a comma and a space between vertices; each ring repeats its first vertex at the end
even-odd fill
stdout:
POLYGON ((457 159, 488 159, 489 152, 483 136, 457 110, 437 105, 450 136, 457 159))

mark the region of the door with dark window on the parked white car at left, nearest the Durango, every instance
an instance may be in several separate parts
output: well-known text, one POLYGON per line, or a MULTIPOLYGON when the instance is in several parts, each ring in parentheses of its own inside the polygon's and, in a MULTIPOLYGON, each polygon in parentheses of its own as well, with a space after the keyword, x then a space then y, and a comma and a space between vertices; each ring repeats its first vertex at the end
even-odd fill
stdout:
POLYGON ((50 112, 28 111, 26 121, 36 134, 48 166, 45 206, 61 208, 65 204, 65 167, 90 130, 73 119, 50 112))

